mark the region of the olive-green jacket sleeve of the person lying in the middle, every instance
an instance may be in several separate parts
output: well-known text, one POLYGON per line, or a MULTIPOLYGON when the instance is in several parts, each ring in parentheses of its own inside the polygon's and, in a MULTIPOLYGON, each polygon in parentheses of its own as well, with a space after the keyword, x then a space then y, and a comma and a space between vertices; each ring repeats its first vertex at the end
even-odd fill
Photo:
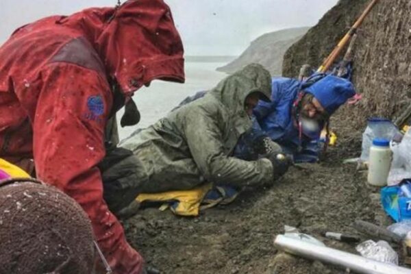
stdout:
POLYGON ((201 111, 186 117, 184 134, 201 173, 210 182, 238 186, 267 184, 273 181, 269 160, 245 161, 226 155, 217 119, 201 111))

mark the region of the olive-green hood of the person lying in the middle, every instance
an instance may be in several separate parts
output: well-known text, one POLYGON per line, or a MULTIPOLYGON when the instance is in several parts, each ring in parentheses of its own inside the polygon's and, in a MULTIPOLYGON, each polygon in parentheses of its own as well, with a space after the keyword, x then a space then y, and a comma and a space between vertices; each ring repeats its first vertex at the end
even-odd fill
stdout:
POLYGON ((245 99, 258 92, 260 99, 271 101, 271 75, 260 64, 249 64, 240 71, 223 79, 213 90, 217 97, 232 114, 243 116, 245 99))

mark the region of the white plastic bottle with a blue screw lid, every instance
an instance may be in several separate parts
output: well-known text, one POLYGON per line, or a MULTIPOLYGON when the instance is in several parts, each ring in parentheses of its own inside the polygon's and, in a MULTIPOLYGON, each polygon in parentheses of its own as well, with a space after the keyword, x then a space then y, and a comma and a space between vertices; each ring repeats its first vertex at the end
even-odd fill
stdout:
POLYGON ((386 186, 393 151, 390 149, 390 141, 383 138, 375 138, 370 148, 368 182, 373 186, 386 186))

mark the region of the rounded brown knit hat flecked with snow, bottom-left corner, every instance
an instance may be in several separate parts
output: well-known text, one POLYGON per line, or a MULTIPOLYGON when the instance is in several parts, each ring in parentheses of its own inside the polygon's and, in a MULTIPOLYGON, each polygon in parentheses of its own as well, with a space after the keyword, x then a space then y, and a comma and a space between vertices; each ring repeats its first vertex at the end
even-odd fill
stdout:
POLYGON ((0 183, 0 273, 95 273, 90 220, 57 188, 0 183))

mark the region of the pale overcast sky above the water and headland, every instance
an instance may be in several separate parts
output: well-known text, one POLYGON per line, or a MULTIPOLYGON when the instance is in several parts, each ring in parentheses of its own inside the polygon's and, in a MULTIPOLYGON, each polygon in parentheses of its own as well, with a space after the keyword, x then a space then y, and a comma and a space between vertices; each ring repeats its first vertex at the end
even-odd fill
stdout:
MULTIPOLYGON (((315 25, 338 0, 165 0, 186 55, 239 55, 266 32, 315 25)), ((17 27, 116 0, 0 0, 0 43, 17 27)))

